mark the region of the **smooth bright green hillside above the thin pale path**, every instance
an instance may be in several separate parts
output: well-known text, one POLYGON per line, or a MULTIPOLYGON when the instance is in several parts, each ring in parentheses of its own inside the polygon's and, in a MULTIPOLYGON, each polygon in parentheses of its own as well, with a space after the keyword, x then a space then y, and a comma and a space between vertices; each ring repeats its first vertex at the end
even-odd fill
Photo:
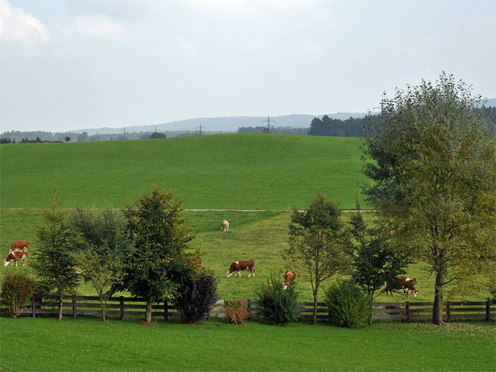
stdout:
POLYGON ((57 187, 65 207, 122 207, 160 183, 191 209, 293 209, 317 191, 354 206, 357 138, 229 134, 0 146, 0 207, 44 207, 57 187))

